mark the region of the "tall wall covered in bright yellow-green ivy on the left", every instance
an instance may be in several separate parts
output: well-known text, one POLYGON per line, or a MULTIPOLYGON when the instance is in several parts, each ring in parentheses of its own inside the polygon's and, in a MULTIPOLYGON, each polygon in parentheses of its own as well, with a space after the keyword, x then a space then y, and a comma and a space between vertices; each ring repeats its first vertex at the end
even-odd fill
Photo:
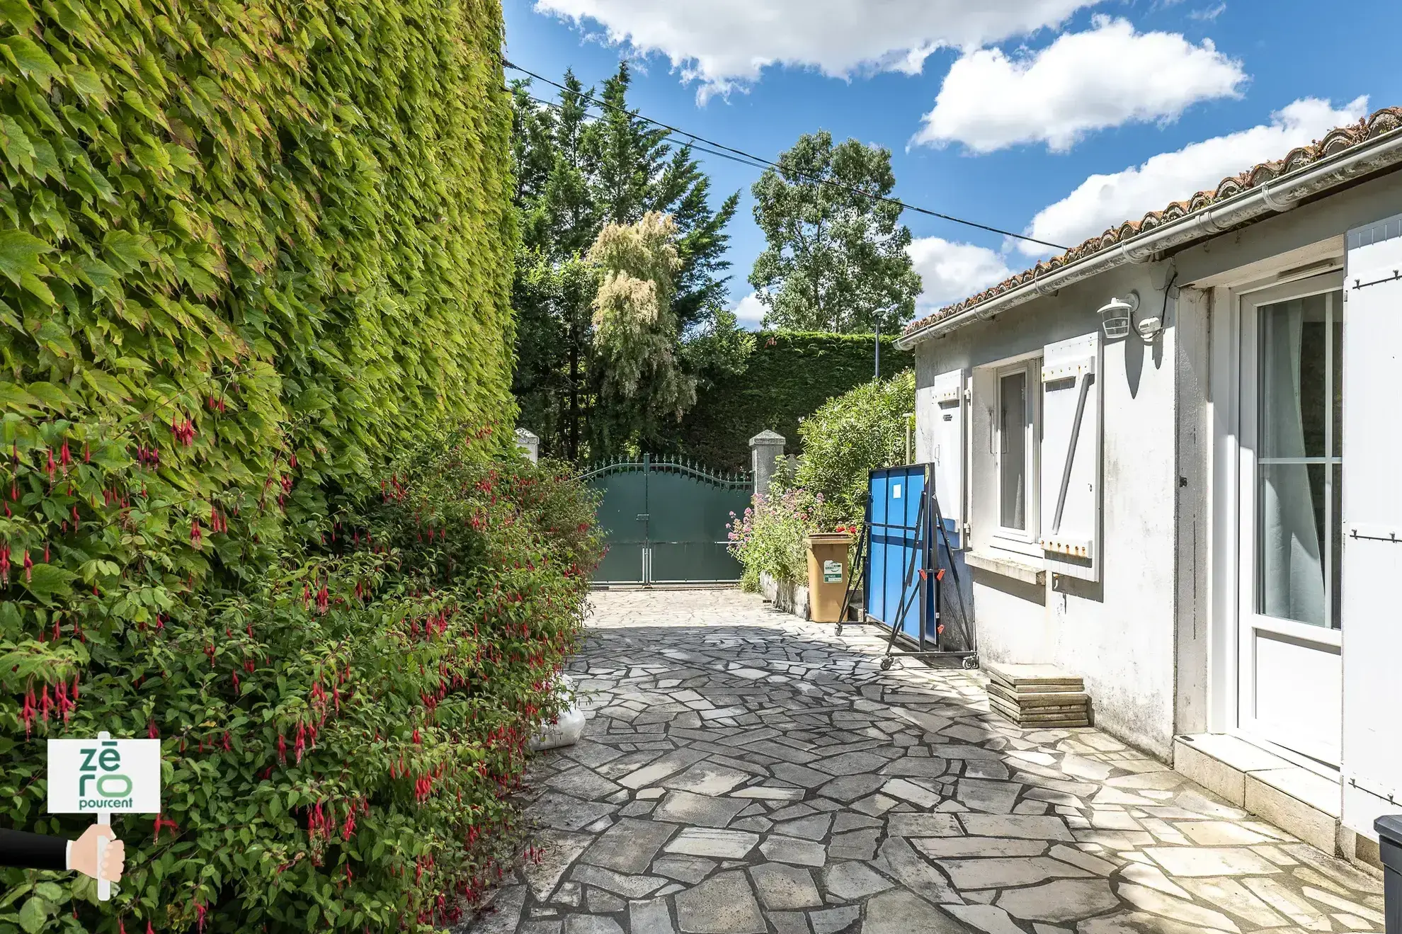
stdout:
POLYGON ((353 485, 509 417, 495 0, 0 7, 7 446, 188 419, 178 485, 206 499, 293 453, 353 485))

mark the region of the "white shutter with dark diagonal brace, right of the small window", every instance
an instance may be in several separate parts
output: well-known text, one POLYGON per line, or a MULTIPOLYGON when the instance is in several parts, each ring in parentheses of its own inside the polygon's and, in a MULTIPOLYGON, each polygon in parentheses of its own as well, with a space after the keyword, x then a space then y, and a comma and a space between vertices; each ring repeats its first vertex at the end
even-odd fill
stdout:
POLYGON ((1043 348, 1042 550, 1047 571, 1101 575, 1101 332, 1043 348))

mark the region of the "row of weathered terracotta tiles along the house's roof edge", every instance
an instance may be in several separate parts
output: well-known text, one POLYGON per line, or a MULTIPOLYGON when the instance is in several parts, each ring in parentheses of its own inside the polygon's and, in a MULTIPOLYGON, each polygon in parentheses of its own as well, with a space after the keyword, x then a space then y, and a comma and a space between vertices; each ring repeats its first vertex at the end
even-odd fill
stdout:
POLYGON ((1050 259, 1043 259, 1037 265, 1019 272, 1015 276, 1004 279, 991 289, 984 289, 983 292, 969 296, 963 302, 958 302, 951 306, 928 314, 918 321, 913 321, 906 325, 903 334, 913 334, 921 328, 930 327, 937 321, 942 321, 948 317, 953 317, 960 311, 966 311, 976 304, 981 304, 988 299, 997 297, 1005 292, 1011 292, 1022 285, 1026 285, 1036 279, 1037 276, 1044 276, 1061 266, 1070 265, 1078 259, 1084 259, 1094 255, 1102 250, 1108 250, 1122 240, 1129 240, 1140 233, 1152 230, 1165 223, 1185 217, 1196 210, 1214 205, 1220 201, 1225 201, 1234 195, 1239 195, 1244 191, 1255 188, 1263 182, 1269 182, 1273 178, 1280 178, 1286 172, 1291 172, 1297 168, 1315 163, 1326 156, 1333 156, 1345 149, 1357 146, 1359 143, 1367 142, 1382 133, 1402 126, 1402 107, 1387 107, 1375 111, 1373 115, 1363 118, 1357 123, 1350 123, 1347 126, 1339 126, 1328 133, 1323 139, 1315 140, 1309 146, 1298 146, 1288 153, 1286 157, 1273 163, 1260 163, 1259 165, 1252 165, 1239 175, 1230 175, 1224 178, 1214 191, 1200 191, 1187 201, 1175 201, 1168 205, 1164 210, 1151 210, 1138 220, 1126 220, 1119 227, 1110 227, 1098 237, 1091 237, 1078 247, 1071 247, 1059 257, 1052 257, 1050 259))

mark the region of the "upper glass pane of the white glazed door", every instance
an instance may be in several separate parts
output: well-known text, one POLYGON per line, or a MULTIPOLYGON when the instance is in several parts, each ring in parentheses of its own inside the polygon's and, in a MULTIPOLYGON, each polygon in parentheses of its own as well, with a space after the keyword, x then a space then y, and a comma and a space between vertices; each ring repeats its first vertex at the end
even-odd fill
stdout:
POLYGON ((1260 457, 1325 456, 1325 297, 1260 309, 1260 457))

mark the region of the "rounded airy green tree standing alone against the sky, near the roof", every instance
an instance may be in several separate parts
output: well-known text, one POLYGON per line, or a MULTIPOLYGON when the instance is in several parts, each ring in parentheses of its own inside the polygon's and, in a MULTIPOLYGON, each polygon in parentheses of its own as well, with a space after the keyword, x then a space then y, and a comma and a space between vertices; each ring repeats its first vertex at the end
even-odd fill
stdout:
POLYGON ((855 139, 833 144, 806 133, 753 187, 754 222, 768 247, 750 285, 768 309, 767 327, 890 332, 910 321, 920 295, 910 229, 900 205, 879 201, 896 187, 890 150, 855 139))

